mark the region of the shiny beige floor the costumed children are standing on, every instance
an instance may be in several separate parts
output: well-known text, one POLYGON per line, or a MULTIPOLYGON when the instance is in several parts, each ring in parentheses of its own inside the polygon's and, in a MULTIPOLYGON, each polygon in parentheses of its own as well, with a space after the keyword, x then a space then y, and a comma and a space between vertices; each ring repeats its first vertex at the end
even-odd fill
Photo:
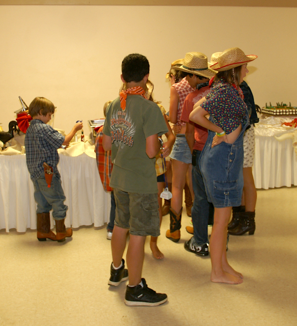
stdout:
POLYGON ((1 230, 0 325, 296 325, 296 210, 297 187, 258 191, 255 234, 230 236, 228 259, 245 276, 236 286, 211 283, 210 259, 184 250, 185 213, 179 243, 165 237, 165 216, 158 241, 165 258, 152 257, 147 239, 143 268, 148 286, 168 294, 155 308, 127 307, 125 284, 107 285, 104 227, 81 227, 64 243, 1 230))

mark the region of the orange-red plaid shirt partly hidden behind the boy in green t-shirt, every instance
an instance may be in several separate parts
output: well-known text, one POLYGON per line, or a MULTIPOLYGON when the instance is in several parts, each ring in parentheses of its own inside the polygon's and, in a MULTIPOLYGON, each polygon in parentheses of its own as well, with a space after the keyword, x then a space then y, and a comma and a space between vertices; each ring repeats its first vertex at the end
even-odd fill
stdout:
POLYGON ((99 128, 95 141, 95 152, 96 152, 96 161, 98 166, 98 171, 100 179, 103 185, 103 188, 106 192, 113 191, 113 188, 110 187, 110 179, 112 174, 112 156, 111 151, 105 152, 102 145, 103 139, 103 126, 99 128))

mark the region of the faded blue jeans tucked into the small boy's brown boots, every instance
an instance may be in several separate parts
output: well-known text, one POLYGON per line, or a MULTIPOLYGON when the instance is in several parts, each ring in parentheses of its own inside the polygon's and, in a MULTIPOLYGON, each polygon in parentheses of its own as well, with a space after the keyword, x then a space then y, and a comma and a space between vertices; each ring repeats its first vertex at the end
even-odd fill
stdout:
POLYGON ((64 205, 66 199, 62 188, 60 176, 54 174, 51 180, 50 188, 47 187, 44 173, 33 181, 34 198, 37 203, 36 213, 49 213, 52 209, 52 217, 55 220, 63 220, 66 217, 67 205, 64 205))

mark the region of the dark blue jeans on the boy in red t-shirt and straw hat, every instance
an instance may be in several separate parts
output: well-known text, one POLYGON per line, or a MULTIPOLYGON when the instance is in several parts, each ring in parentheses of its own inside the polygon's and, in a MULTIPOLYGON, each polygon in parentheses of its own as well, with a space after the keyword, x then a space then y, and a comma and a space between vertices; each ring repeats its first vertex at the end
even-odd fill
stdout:
POLYGON ((196 151, 196 166, 192 169, 192 181, 194 202, 192 207, 192 222, 194 228, 194 240, 198 246, 208 242, 207 226, 208 218, 213 220, 213 205, 208 202, 205 186, 199 168, 201 151, 196 151))

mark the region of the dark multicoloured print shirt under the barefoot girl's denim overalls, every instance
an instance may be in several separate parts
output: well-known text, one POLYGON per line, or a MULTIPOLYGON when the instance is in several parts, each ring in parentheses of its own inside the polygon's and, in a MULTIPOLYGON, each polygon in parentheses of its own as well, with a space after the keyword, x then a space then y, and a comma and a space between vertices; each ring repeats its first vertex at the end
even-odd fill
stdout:
POLYGON ((224 79, 215 82, 205 98, 206 101, 201 107, 212 116, 214 124, 221 127, 226 134, 234 131, 240 123, 243 125, 247 123, 246 103, 241 99, 238 90, 224 79))

